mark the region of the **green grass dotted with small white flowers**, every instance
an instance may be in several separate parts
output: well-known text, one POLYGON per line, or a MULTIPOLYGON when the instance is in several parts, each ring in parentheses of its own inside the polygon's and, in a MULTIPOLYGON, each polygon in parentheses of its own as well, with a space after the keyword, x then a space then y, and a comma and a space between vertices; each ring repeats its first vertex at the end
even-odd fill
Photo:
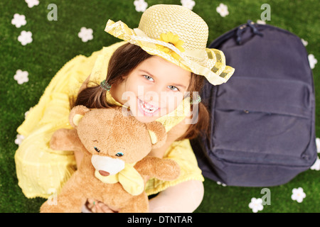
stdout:
MULTIPOLYGON (((146 0, 154 4, 181 4, 180 0, 146 0)), ((284 28, 308 41, 306 49, 320 60, 320 20, 318 0, 300 1, 213 1, 196 0, 193 11, 198 13, 210 29, 208 44, 247 19, 260 19, 264 3, 271 6, 271 21, 267 23, 284 28), (221 17, 215 8, 223 2, 229 15, 221 17)), ((0 212, 38 212, 44 199, 26 199, 18 187, 14 153, 17 145, 16 128, 23 122, 24 113, 37 104, 44 89, 65 62, 75 55, 89 56, 103 46, 117 42, 105 33, 108 18, 122 20, 136 28, 142 13, 135 11, 132 1, 58 1, 41 0, 29 9, 25 1, 0 1, 0 212), (48 21, 48 4, 58 6, 58 21, 48 21), (26 25, 16 28, 11 24, 14 13, 26 16, 26 25), (82 43, 78 38, 80 28, 92 28, 93 40, 82 43), (21 31, 31 31, 33 42, 21 45, 17 38, 21 31), (28 71, 29 81, 17 84, 16 70, 28 71)), ((316 89, 316 135, 320 137, 320 66, 314 68, 316 89)), ((205 195, 196 212, 252 212, 248 204, 252 197, 260 198, 262 188, 223 187, 206 179, 205 195)), ((291 182, 270 187, 271 205, 260 212, 319 212, 319 171, 308 170, 291 182), (302 187, 306 198, 299 204, 292 201, 292 189, 302 187)))

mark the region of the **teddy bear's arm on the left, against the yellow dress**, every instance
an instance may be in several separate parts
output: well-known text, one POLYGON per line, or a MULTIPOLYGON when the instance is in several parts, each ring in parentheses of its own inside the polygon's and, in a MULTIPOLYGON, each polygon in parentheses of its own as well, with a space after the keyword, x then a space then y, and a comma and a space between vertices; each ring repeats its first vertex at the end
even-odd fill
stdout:
POLYGON ((61 128, 55 131, 50 140, 53 150, 84 150, 78 133, 75 129, 61 128))

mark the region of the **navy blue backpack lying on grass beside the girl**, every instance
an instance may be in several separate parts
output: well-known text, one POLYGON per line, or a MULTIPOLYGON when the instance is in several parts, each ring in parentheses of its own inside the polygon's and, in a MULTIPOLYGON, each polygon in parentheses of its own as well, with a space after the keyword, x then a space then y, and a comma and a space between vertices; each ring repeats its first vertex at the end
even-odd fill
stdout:
POLYGON ((209 48, 222 50, 235 73, 206 82, 201 99, 210 136, 191 140, 203 175, 230 186, 289 182, 316 161, 314 81, 300 38, 248 21, 209 48))

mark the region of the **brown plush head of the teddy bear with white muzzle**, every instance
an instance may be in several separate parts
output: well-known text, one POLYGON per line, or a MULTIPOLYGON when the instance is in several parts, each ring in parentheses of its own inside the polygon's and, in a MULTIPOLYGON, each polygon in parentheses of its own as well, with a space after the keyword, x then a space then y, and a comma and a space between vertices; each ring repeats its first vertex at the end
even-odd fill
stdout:
POLYGON ((166 141, 166 131, 161 123, 142 123, 122 111, 122 107, 87 109, 75 106, 69 121, 92 154, 92 165, 101 175, 114 175, 125 163, 142 160, 152 148, 166 141))

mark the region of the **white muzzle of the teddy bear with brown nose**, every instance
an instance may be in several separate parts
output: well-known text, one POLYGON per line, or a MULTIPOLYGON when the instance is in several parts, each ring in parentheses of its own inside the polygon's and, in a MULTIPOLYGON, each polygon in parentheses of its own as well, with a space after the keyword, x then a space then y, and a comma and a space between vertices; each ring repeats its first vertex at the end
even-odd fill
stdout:
POLYGON ((115 175, 124 169, 124 161, 117 158, 92 155, 91 162, 95 170, 97 170, 100 175, 107 177, 109 175, 115 175))

